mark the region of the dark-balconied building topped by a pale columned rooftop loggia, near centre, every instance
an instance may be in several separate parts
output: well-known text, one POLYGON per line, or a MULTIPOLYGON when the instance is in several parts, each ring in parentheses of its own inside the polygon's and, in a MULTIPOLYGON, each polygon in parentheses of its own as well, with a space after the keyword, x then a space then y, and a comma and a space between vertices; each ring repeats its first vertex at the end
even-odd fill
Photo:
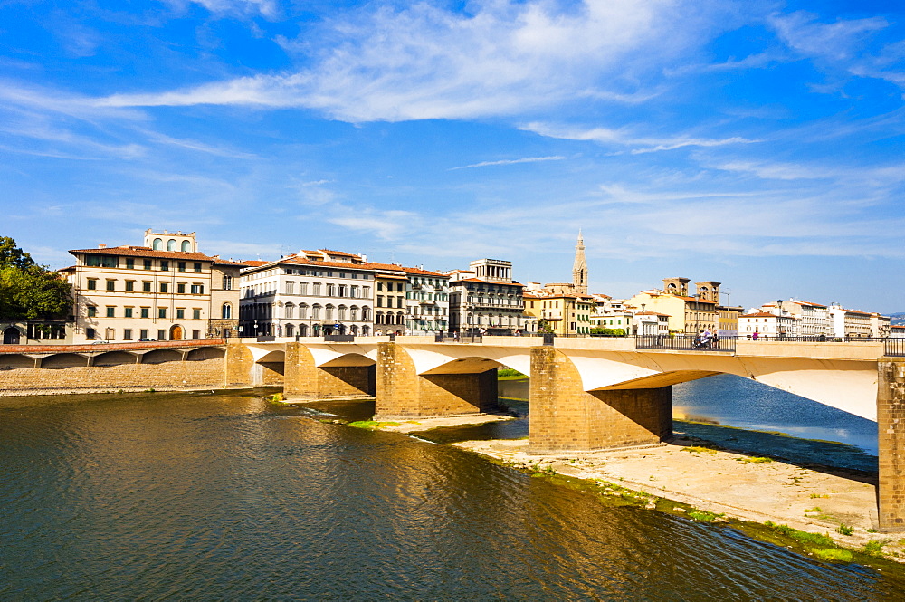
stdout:
POLYGON ((450 277, 450 330, 515 334, 528 325, 519 282, 512 280, 512 263, 481 259, 469 270, 445 272, 450 277))

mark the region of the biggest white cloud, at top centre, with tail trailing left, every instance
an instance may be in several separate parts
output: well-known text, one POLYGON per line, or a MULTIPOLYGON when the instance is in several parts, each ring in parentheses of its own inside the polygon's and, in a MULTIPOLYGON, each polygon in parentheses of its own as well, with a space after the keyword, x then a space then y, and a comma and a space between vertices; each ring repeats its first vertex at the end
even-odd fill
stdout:
POLYGON ((638 74, 659 73, 714 29, 700 5, 673 0, 488 0, 469 8, 367 5, 329 22, 321 46, 310 35, 283 41, 317 57, 307 68, 97 103, 306 107, 364 122, 514 115, 581 99, 642 102, 659 92, 643 90, 638 74))

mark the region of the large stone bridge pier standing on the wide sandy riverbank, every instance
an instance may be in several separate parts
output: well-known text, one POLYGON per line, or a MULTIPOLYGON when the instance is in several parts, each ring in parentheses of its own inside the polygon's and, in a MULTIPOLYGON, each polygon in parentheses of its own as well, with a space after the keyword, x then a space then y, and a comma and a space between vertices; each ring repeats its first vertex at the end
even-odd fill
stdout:
POLYGON ((672 387, 585 391, 572 360, 531 349, 530 449, 590 452, 672 438, 672 387))

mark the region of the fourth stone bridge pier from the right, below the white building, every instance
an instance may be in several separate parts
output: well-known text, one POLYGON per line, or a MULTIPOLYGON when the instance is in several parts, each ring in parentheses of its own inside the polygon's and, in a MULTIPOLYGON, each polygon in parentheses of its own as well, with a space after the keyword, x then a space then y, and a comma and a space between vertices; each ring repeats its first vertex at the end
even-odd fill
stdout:
POLYGON ((318 367, 310 350, 286 344, 283 394, 287 397, 371 397, 375 393, 374 365, 318 367))

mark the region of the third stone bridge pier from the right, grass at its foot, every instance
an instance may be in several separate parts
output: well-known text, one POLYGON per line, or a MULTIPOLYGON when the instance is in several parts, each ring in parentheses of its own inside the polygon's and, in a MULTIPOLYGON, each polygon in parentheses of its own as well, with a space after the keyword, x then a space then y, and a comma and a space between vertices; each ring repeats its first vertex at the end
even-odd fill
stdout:
POLYGON ((377 346, 375 420, 479 414, 497 406, 497 370, 419 375, 395 343, 377 346))

